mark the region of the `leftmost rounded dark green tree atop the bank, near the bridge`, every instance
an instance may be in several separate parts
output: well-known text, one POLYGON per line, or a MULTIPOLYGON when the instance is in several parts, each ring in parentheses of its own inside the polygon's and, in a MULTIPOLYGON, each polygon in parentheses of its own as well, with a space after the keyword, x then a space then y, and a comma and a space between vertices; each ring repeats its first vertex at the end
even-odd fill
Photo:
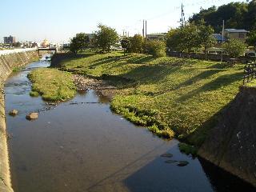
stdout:
POLYGON ((86 49, 89 45, 90 39, 88 35, 84 33, 76 34, 74 38, 70 39, 70 51, 74 54, 78 53, 78 50, 86 49))

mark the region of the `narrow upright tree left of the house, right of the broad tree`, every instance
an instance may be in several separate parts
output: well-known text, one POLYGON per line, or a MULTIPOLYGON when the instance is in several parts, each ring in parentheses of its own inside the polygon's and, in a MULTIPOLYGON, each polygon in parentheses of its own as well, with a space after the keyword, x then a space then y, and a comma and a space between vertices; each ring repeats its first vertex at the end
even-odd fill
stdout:
POLYGON ((204 24, 199 26, 198 38, 199 43, 203 46, 204 52, 206 54, 206 49, 214 46, 216 43, 213 37, 214 29, 211 26, 205 26, 204 24))

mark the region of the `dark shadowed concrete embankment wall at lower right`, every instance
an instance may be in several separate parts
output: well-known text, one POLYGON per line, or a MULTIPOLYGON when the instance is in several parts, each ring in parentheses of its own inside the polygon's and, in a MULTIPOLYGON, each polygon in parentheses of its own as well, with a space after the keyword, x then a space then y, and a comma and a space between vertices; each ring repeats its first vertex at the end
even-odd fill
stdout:
POLYGON ((256 88, 242 86, 199 155, 256 186, 256 88))

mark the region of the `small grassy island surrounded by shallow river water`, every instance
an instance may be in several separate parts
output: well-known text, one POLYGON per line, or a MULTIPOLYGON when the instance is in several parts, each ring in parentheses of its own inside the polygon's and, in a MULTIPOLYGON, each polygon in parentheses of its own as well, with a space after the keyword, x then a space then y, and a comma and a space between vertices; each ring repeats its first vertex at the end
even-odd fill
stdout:
POLYGON ((38 92, 46 101, 66 101, 76 94, 76 88, 70 73, 42 68, 33 70, 29 74, 29 78, 33 82, 30 95, 38 92))

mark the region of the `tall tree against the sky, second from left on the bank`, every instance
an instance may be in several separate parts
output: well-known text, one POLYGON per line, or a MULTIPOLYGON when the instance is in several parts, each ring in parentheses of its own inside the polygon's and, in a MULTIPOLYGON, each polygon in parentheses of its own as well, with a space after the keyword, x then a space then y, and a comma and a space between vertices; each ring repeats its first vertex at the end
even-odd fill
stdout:
POLYGON ((102 51, 110 52, 110 47, 118 42, 118 33, 109 26, 98 25, 99 30, 95 32, 95 44, 102 51))

